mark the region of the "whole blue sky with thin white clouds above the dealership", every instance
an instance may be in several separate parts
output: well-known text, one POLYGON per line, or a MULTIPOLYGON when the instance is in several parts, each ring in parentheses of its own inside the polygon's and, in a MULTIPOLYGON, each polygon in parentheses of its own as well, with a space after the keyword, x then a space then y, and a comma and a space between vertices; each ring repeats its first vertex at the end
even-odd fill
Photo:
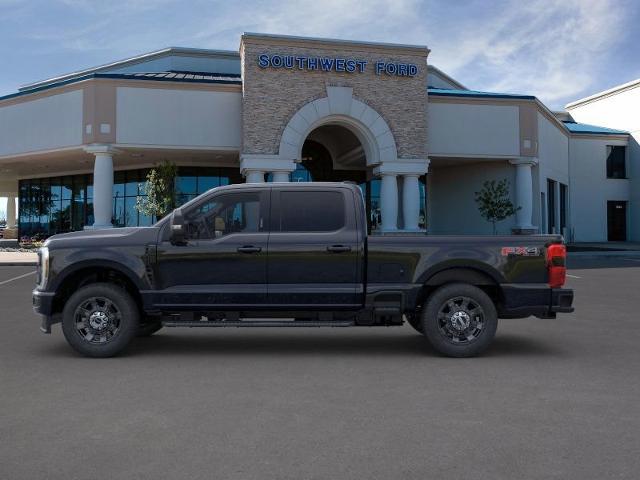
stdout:
POLYGON ((243 31, 424 44, 472 89, 549 107, 640 77, 633 0, 0 0, 0 94, 166 46, 236 50, 243 31))

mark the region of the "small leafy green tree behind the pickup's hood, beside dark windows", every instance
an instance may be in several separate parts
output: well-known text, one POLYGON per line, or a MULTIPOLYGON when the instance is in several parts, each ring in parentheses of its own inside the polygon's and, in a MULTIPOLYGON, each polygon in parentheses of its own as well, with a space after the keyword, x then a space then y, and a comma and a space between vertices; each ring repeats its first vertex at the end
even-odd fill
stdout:
POLYGON ((168 160, 152 168, 147 183, 142 185, 146 196, 136 199, 136 210, 143 215, 161 219, 176 207, 175 178, 178 167, 168 160))

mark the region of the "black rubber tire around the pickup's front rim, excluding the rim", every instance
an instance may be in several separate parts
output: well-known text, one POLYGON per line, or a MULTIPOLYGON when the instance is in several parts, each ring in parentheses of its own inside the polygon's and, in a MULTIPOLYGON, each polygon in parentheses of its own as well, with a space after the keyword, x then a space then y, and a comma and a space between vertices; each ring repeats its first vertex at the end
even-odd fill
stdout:
POLYGON ((109 283, 95 283, 80 288, 65 303, 62 311, 62 332, 67 342, 79 353, 87 357, 112 357, 122 352, 136 335, 140 313, 133 298, 126 290, 109 283), (76 332, 75 311, 90 297, 105 297, 120 310, 121 318, 116 336, 104 345, 85 342, 76 332))

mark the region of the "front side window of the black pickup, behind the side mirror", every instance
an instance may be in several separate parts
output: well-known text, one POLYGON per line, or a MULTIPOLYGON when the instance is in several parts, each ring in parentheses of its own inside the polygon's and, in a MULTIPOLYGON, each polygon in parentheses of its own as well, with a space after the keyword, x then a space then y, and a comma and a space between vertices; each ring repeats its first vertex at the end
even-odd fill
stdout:
POLYGON ((260 194, 218 195, 187 212, 185 221, 192 239, 259 232, 263 223, 260 220, 260 194))

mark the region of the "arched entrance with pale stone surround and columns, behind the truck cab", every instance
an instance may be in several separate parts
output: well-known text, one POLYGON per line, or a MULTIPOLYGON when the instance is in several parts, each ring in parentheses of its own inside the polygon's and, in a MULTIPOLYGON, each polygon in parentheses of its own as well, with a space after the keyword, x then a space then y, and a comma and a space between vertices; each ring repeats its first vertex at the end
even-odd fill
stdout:
POLYGON ((425 174, 429 161, 398 158, 385 119, 353 98, 350 87, 328 86, 327 97, 296 111, 277 154, 241 155, 247 182, 344 181, 361 186, 372 232, 425 229, 425 174))

